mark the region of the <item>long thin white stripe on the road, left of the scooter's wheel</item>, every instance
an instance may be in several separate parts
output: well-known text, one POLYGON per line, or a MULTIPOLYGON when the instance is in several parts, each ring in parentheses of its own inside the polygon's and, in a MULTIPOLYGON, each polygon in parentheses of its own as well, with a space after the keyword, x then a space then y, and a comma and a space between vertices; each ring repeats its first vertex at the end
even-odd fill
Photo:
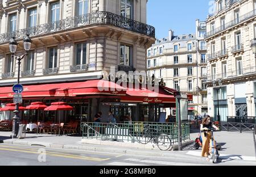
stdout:
POLYGON ((167 165, 167 166, 209 166, 199 163, 183 163, 183 162, 167 162, 167 161, 150 161, 150 160, 141 160, 141 159, 125 159, 125 161, 131 162, 141 162, 141 163, 151 163, 156 165, 167 165))

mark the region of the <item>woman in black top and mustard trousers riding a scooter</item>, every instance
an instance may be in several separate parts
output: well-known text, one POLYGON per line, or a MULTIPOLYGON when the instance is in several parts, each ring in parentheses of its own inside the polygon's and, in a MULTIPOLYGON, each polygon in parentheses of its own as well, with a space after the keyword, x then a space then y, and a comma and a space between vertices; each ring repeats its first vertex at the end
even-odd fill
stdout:
MULTIPOLYGON (((201 156, 202 157, 206 157, 207 161, 209 161, 209 155, 212 151, 212 146, 210 146, 212 144, 212 132, 210 132, 208 129, 209 128, 214 128, 216 130, 218 130, 218 127, 216 127, 215 125, 213 125, 213 123, 210 121, 210 116, 206 116, 201 124, 201 128, 200 130, 203 131, 203 146, 202 146, 202 152, 201 152, 201 156)), ((216 144, 215 144, 215 140, 213 140, 214 142, 214 147, 216 148, 216 144)))

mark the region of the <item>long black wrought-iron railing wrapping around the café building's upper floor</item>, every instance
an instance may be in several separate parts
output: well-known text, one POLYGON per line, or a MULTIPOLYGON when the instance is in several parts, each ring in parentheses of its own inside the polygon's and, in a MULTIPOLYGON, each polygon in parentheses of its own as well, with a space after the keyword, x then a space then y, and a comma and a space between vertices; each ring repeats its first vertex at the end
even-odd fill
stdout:
POLYGON ((97 11, 90 14, 66 18, 56 22, 40 24, 39 26, 31 28, 19 29, 14 32, 3 33, 0 35, 0 44, 9 42, 11 37, 15 37, 16 40, 21 40, 26 36, 26 34, 29 34, 30 37, 34 37, 83 26, 90 26, 93 24, 108 24, 128 29, 133 32, 142 33, 143 35, 150 37, 155 37, 155 28, 152 26, 111 12, 97 11))

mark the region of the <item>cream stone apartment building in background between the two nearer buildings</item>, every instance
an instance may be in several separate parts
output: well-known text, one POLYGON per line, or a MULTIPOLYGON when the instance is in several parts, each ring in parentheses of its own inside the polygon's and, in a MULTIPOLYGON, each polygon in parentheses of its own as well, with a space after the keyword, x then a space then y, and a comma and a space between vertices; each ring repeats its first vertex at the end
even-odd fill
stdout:
POLYGON ((163 78, 166 86, 193 95, 189 101, 190 116, 207 114, 207 45, 206 23, 196 20, 196 33, 168 36, 156 40, 147 49, 147 75, 163 78))

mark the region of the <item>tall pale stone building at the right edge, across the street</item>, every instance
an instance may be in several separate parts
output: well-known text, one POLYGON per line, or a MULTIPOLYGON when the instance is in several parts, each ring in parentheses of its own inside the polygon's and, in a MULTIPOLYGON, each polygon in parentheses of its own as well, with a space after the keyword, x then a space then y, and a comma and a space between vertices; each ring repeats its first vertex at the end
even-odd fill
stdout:
POLYGON ((208 111, 227 116, 255 116, 256 1, 215 1, 207 18, 208 111), (217 94, 218 93, 218 94, 217 94))

